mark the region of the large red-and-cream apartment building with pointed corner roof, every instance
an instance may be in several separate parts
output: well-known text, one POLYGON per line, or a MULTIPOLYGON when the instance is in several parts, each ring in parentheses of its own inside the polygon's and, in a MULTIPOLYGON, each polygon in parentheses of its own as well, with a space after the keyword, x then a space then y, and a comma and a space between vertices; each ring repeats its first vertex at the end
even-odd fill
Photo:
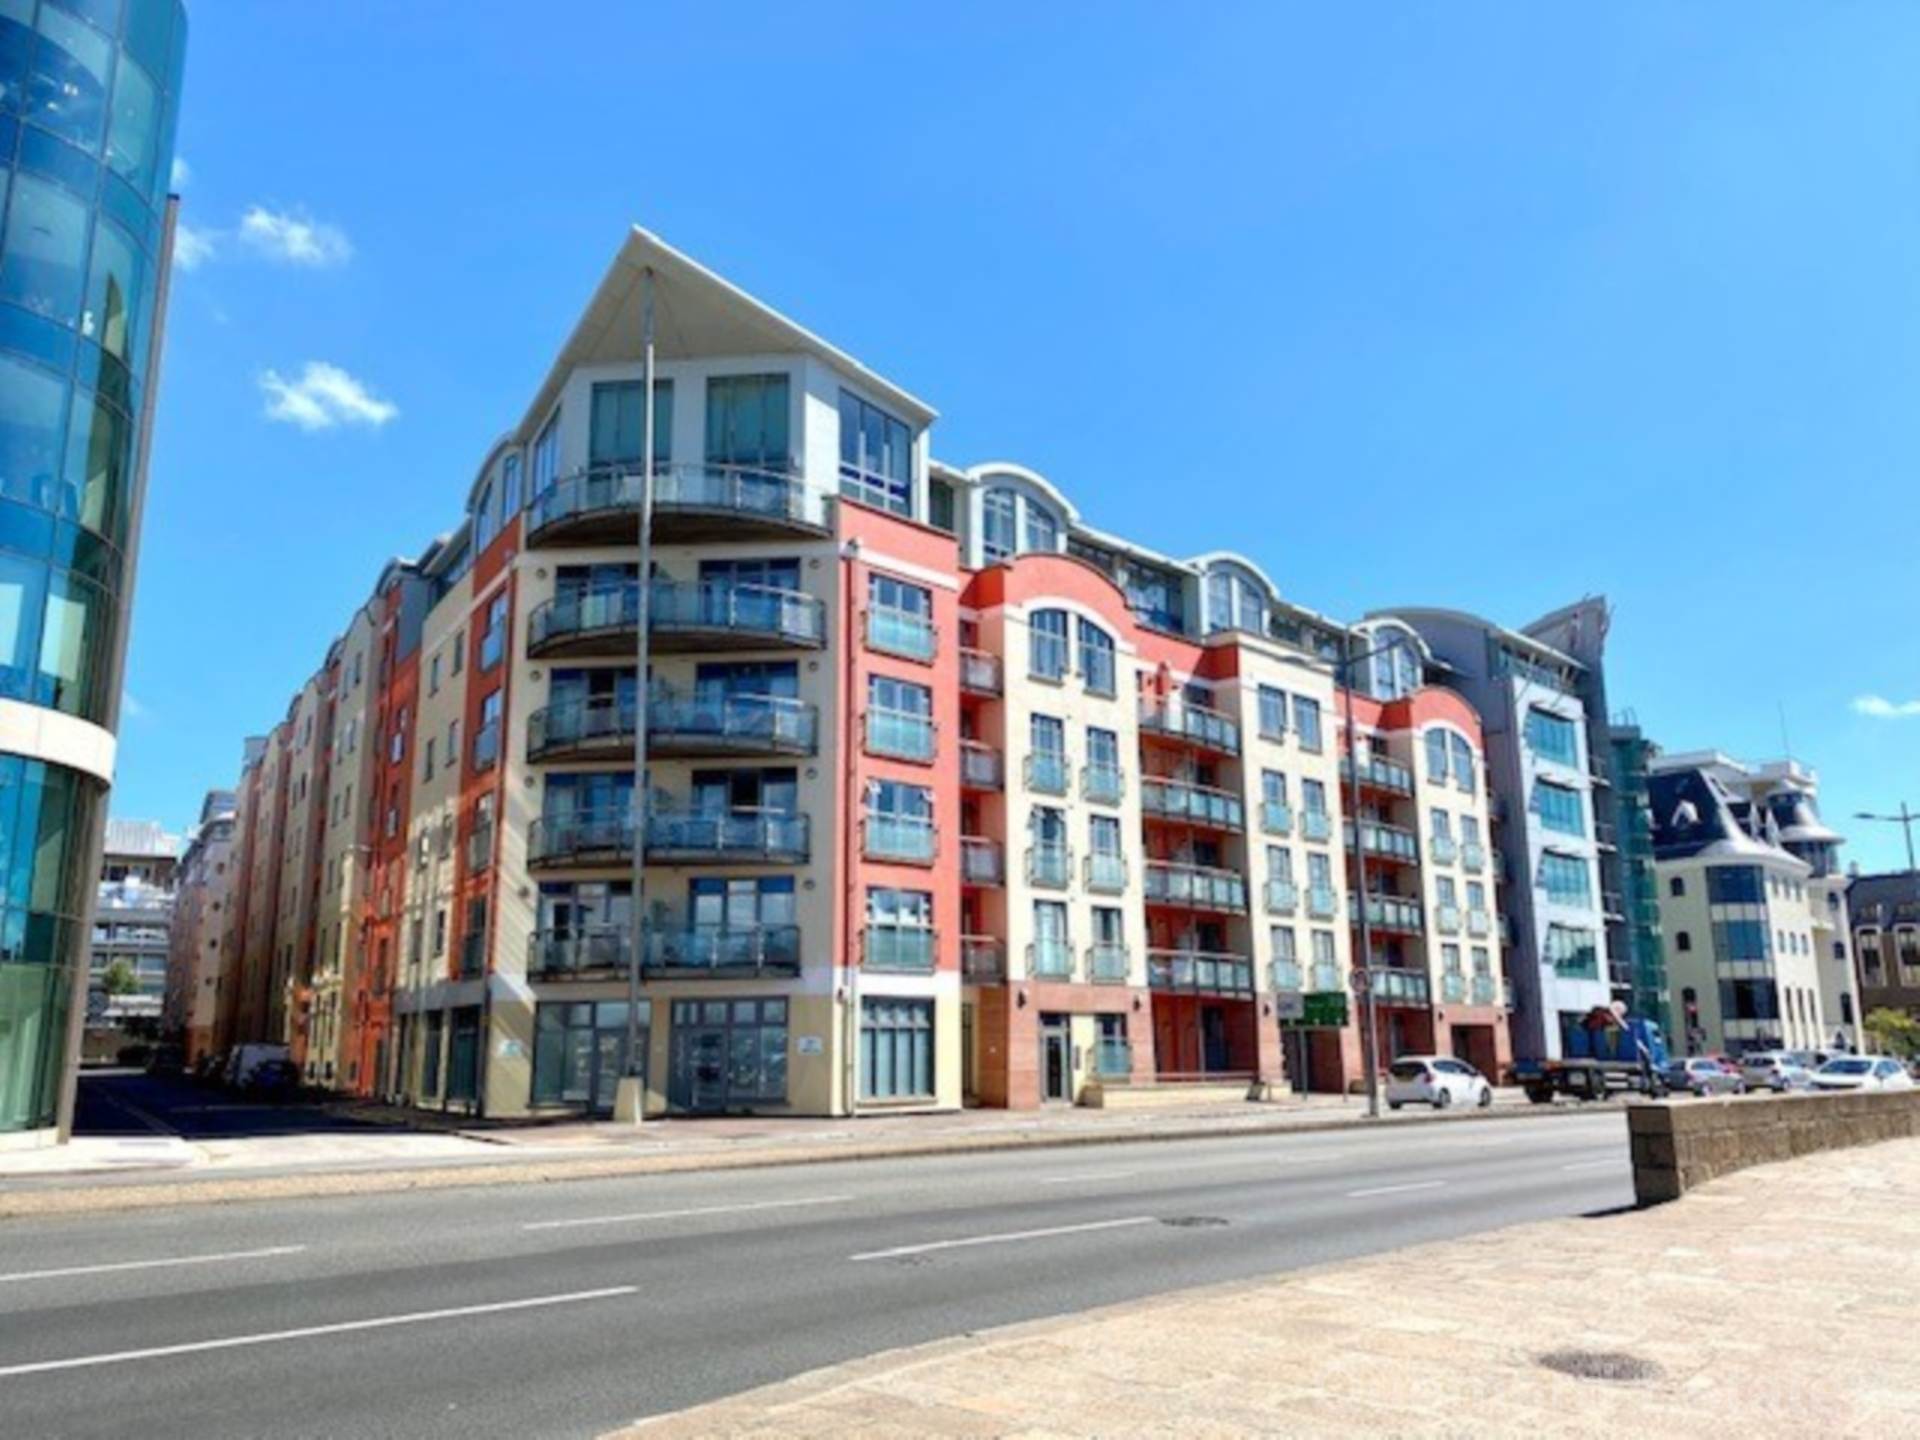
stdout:
POLYGON ((1501 1066, 1463 693, 1361 689, 1350 833, 1377 628, 941 463, 933 422, 634 230, 463 522, 248 755, 236 1037, 488 1116, 626 1073, 647 1114, 1348 1089, 1363 872, 1382 1060, 1501 1066))

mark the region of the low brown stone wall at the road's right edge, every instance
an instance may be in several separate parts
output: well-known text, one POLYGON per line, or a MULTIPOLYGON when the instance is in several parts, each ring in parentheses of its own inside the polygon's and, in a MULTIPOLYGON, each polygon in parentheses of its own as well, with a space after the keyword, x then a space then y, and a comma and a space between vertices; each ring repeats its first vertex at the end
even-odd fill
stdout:
POLYGON ((1749 1165, 1920 1135, 1920 1091, 1636 1104, 1626 1129, 1634 1194, 1657 1206, 1749 1165))

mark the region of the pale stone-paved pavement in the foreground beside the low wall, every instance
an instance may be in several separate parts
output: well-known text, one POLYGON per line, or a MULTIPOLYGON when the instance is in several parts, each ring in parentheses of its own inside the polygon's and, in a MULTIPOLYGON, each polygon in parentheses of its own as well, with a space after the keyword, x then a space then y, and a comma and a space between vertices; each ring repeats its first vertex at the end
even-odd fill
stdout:
POLYGON ((893 1350, 624 1434, 1920 1434, 1914 1194, 1920 1140, 1826 1152, 1655 1210, 893 1350))

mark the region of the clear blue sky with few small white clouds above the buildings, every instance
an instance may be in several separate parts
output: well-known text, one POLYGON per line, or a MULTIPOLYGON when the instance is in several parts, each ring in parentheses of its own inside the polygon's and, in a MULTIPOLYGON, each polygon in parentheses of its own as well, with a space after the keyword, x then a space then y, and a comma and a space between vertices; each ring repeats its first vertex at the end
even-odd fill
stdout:
POLYGON ((194 6, 115 812, 230 781, 632 221, 950 461, 1334 614, 1603 591, 1667 747, 1920 801, 1912 6, 526 13, 194 6))

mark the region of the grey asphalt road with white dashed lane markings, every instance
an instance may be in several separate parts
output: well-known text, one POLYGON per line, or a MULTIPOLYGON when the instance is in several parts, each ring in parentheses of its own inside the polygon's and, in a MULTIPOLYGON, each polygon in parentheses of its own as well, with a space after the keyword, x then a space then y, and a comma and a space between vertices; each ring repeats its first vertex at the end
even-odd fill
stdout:
POLYGON ((960 1331, 1630 1204, 1619 1114, 0 1223, 0 1432, 595 1434, 960 1331))

